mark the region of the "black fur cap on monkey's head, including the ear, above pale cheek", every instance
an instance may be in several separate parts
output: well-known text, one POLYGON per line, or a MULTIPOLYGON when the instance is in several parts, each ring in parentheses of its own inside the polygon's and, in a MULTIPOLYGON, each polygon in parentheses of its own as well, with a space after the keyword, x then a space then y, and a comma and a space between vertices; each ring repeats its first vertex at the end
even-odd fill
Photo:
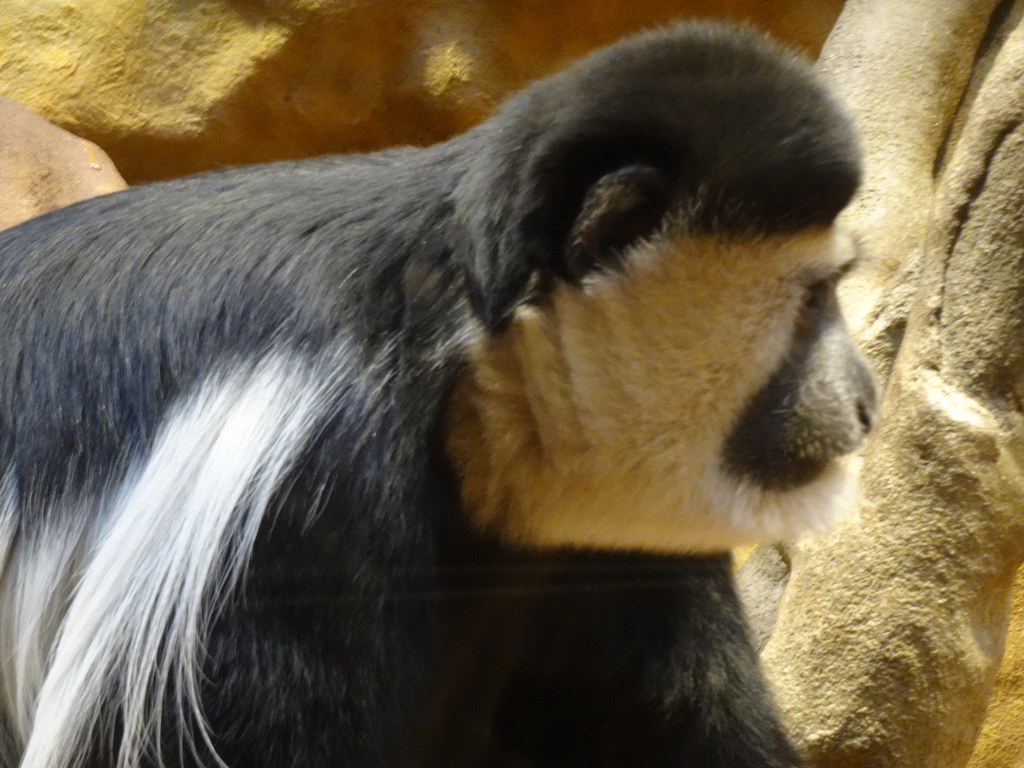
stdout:
POLYGON ((810 66, 718 24, 598 51, 476 132, 456 212, 493 327, 531 282, 579 281, 667 221, 726 236, 824 226, 860 178, 850 121, 810 66))

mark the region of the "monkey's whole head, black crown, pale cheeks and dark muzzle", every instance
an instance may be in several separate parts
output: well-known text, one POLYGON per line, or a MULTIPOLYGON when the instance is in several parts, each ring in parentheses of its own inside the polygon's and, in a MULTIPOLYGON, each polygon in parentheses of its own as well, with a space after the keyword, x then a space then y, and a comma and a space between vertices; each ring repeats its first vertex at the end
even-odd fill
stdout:
POLYGON ((836 296, 849 120, 749 32, 644 35, 514 97, 456 190, 487 334, 453 395, 470 517, 700 551, 847 506, 871 376, 836 296))

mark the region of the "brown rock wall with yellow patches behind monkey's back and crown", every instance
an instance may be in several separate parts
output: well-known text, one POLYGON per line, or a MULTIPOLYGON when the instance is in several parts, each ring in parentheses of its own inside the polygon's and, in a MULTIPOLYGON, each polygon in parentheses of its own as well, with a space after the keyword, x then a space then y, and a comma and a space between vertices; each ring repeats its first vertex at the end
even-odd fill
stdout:
POLYGON ((3 0, 0 93, 132 182, 428 143, 623 34, 749 19, 816 53, 842 0, 3 0))

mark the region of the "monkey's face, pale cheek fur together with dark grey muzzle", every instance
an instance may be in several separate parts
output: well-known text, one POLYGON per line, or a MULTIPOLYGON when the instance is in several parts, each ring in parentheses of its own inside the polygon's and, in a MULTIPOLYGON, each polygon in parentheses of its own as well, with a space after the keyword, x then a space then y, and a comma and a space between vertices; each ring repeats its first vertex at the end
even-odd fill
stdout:
POLYGON ((705 550, 848 506, 871 377, 834 229, 657 234, 484 342, 450 447, 469 514, 526 544, 705 550))

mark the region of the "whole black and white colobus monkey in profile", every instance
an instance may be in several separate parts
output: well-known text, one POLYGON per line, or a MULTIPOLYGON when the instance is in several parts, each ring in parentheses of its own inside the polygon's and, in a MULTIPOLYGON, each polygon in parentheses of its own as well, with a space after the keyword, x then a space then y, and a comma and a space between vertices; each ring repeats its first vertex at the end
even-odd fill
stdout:
POLYGON ((0 233, 5 764, 798 765, 714 553, 848 495, 857 180, 702 25, 0 233))

